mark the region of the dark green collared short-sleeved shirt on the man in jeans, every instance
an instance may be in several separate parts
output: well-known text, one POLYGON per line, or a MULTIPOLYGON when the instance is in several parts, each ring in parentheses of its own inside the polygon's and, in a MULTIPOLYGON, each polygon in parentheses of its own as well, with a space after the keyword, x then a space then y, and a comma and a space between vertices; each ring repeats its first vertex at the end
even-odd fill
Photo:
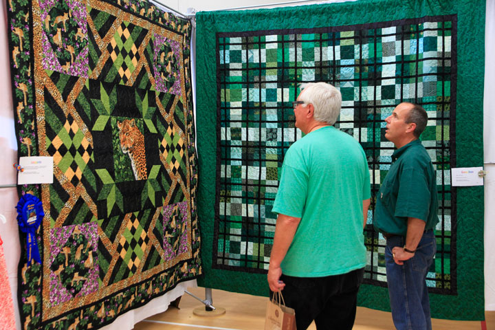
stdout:
POLYGON ((425 221, 425 230, 439 222, 437 176, 419 140, 393 153, 377 195, 373 225, 380 232, 406 236, 408 217, 425 221))

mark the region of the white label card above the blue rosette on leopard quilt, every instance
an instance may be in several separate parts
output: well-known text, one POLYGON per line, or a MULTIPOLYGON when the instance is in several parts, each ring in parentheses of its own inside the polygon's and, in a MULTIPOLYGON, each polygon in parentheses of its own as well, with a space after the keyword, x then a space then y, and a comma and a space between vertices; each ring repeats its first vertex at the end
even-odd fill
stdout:
POLYGON ((17 184, 53 184, 53 157, 20 157, 17 184))

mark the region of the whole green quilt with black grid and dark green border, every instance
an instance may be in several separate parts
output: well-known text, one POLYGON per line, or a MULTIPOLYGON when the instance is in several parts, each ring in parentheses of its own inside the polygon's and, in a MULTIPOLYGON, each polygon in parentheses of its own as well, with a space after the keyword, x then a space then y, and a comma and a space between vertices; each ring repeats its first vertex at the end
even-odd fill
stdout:
MULTIPOLYGON (((207 270, 200 284, 267 295, 272 205, 285 152, 301 137, 291 102, 300 83, 325 81, 342 92, 336 127, 363 146, 373 196, 394 150, 384 119, 404 101, 428 112, 421 141, 437 170, 440 205, 427 277, 432 314, 482 319, 483 189, 452 187, 450 168, 483 162, 484 14, 484 1, 475 0, 197 14, 198 210, 207 270), (461 307, 467 302, 472 308, 461 307)), ((373 206, 359 303, 386 310, 385 240, 373 230, 373 206)))

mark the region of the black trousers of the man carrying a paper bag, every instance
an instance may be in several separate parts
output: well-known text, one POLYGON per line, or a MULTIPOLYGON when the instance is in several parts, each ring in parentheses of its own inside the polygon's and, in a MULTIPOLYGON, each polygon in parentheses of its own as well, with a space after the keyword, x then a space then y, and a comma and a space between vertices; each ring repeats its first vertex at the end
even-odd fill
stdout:
MULTIPOLYGON (((296 311, 297 330, 305 330, 313 320, 316 329, 352 329, 358 289, 364 268, 347 274, 325 277, 281 276, 285 305, 296 311)), ((270 292, 270 298, 273 296, 270 292)))

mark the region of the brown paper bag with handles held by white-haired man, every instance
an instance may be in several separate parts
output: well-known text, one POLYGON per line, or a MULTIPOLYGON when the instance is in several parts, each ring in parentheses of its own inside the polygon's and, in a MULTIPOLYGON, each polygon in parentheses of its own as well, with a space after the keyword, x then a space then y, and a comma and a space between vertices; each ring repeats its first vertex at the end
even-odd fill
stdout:
POLYGON ((296 312, 285 306, 280 290, 268 300, 265 330, 296 330, 296 312))

